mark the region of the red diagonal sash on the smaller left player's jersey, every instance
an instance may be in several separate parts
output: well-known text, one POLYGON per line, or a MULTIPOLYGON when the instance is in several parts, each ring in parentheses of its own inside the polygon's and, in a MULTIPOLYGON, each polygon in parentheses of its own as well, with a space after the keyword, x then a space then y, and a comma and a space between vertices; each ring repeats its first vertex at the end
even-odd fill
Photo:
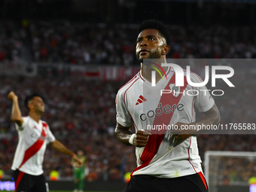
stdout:
POLYGON ((34 154, 36 154, 41 149, 41 146, 44 144, 44 141, 46 138, 46 133, 44 132, 44 128, 45 128, 45 130, 47 129, 47 123, 42 123, 42 124, 43 124, 43 127, 41 130, 41 136, 38 138, 38 140, 33 145, 31 145, 25 151, 25 154, 23 157, 23 162, 20 164, 18 169, 20 169, 20 167, 23 166, 23 164, 26 163, 26 161, 29 160, 30 157, 32 157, 34 154))

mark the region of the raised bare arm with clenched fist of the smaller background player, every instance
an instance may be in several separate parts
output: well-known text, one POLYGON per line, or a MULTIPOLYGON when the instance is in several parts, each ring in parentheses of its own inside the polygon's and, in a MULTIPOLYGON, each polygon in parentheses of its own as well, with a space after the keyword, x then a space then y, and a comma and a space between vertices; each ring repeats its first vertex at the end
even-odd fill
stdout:
POLYGON ((15 95, 13 91, 11 91, 8 94, 8 99, 13 101, 13 106, 11 108, 11 120, 15 123, 17 123, 18 126, 23 125, 23 117, 21 116, 19 102, 18 102, 18 96, 15 95))

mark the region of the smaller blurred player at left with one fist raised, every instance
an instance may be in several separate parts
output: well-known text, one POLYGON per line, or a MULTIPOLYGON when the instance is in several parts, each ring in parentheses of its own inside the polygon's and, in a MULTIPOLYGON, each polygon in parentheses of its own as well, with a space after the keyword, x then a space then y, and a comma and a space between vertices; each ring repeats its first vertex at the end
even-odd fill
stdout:
POLYGON ((48 190, 42 163, 47 144, 72 157, 78 166, 81 166, 82 162, 76 154, 55 139, 48 124, 41 120, 41 114, 44 113, 44 101, 41 96, 35 94, 26 97, 25 105, 29 108, 28 117, 21 116, 18 97, 14 92, 8 94, 8 99, 13 101, 11 120, 14 121, 19 134, 19 142, 11 166, 14 171, 15 191, 46 192, 48 190))

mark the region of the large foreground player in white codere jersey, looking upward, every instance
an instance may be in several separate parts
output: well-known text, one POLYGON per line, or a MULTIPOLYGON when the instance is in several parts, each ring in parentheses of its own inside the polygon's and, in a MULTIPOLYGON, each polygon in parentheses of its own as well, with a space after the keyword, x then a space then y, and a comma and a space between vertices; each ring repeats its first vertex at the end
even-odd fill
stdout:
MULTIPOLYGON (((207 90, 206 87, 191 87, 185 82, 184 87, 180 87, 180 94, 161 96, 159 92, 154 100, 151 99, 151 90, 143 91, 145 87, 151 87, 151 72, 154 70, 143 64, 143 59, 159 59, 158 65, 166 62, 170 38, 169 29, 164 23, 157 20, 143 21, 139 26, 136 43, 136 57, 141 62, 141 71, 121 87, 116 96, 115 134, 124 145, 136 146, 137 157, 137 167, 133 170, 131 180, 124 192, 208 191, 202 173, 197 137, 193 135, 197 130, 178 130, 178 132, 167 130, 158 133, 154 130, 146 130, 147 125, 163 123, 175 124, 181 128, 181 125, 186 124, 209 125, 220 121, 214 99, 208 91, 206 96, 203 91, 200 91, 207 90), (182 92, 185 90, 197 90, 199 94, 183 95, 182 92), (195 107, 204 115, 203 119, 197 122, 195 122, 195 107), (161 109, 157 112, 157 108, 161 109), (136 133, 132 133, 130 129, 133 124, 136 127, 136 133)), ((163 87, 164 90, 169 87, 172 90, 175 84, 175 71, 167 66, 163 67, 163 70, 167 80, 161 79, 160 74, 156 72, 154 91, 157 91, 158 87, 163 87)), ((197 75, 191 73, 190 76, 191 81, 201 82, 197 75)))

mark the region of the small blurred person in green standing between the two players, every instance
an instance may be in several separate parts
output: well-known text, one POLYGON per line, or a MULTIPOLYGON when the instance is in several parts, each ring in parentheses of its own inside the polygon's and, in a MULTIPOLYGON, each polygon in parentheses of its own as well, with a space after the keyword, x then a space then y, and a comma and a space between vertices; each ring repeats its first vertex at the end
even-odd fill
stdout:
POLYGON ((86 157, 84 156, 83 151, 78 150, 77 152, 78 159, 81 160, 82 166, 78 167, 76 166, 76 162, 72 160, 72 165, 74 166, 74 185, 75 190, 74 192, 83 192, 84 191, 84 164, 86 161, 86 157))

